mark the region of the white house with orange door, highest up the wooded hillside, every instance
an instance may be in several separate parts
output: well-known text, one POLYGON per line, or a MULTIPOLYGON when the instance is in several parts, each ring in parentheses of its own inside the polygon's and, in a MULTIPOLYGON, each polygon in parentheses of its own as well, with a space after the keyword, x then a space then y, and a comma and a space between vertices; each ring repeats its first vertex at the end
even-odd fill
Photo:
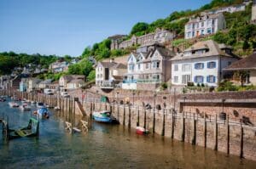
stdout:
POLYGON ((223 13, 205 14, 196 18, 190 18, 185 25, 185 39, 215 34, 224 30, 226 22, 223 13))

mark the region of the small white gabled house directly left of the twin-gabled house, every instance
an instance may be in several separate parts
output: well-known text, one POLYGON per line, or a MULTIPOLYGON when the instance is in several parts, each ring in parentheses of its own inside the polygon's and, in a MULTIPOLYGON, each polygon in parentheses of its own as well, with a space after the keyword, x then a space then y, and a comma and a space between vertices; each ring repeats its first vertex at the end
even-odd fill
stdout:
POLYGON ((122 63, 114 62, 98 62, 96 65, 96 86, 101 88, 120 87, 127 66, 122 63))

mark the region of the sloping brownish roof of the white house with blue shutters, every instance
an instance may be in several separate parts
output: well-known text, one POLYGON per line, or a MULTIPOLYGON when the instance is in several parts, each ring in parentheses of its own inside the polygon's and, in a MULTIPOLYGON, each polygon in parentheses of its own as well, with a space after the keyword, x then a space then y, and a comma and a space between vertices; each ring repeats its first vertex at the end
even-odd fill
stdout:
MULTIPOLYGON (((224 45, 221 45, 222 48, 224 45)), ((177 54, 175 57, 173 57, 171 60, 180 60, 180 59, 195 59, 195 58, 203 58, 203 57, 210 57, 210 56, 225 56, 225 57, 231 57, 231 58, 237 58, 238 56, 235 54, 227 54, 225 51, 221 50, 219 48, 219 44, 217 42, 214 42, 212 40, 208 41, 202 41, 202 42, 196 42, 191 47, 184 50, 184 52, 193 52, 200 49, 208 49, 209 51, 203 54, 190 54, 189 56, 184 56, 183 53, 177 54)))

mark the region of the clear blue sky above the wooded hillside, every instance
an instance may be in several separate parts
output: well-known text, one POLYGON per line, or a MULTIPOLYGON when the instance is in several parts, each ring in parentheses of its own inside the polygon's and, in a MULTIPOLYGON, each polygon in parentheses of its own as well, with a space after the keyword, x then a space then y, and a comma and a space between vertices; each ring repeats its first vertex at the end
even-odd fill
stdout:
POLYGON ((86 46, 128 34, 211 0, 0 0, 0 51, 79 56, 86 46))

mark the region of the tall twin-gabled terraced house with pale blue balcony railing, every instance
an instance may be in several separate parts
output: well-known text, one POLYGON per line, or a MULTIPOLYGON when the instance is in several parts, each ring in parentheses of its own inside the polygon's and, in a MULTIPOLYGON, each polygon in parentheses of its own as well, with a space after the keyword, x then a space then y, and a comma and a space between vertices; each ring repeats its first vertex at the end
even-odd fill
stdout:
POLYGON ((148 52, 132 53, 128 59, 128 73, 124 89, 154 90, 171 79, 171 61, 175 54, 163 47, 148 52))

